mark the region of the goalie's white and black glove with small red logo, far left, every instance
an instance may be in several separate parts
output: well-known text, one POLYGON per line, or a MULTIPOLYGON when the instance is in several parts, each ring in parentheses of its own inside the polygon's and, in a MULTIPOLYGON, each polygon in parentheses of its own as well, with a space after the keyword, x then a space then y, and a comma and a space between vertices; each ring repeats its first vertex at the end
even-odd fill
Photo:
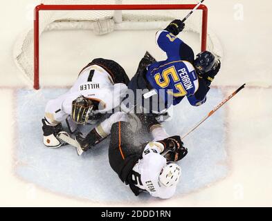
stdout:
POLYGON ((65 142, 60 140, 57 135, 59 133, 64 133, 65 135, 69 136, 68 133, 63 131, 62 124, 57 124, 53 126, 49 124, 46 119, 42 119, 42 130, 44 131, 44 145, 48 148, 59 148, 60 146, 66 145, 65 142))

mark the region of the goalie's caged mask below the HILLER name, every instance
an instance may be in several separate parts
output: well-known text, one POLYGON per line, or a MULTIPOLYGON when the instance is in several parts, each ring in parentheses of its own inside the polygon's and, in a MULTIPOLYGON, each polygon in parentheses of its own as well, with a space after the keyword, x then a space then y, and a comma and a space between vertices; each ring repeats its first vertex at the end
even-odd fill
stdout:
POLYGON ((84 96, 80 96, 72 103, 71 118, 77 124, 87 123, 89 116, 93 111, 93 102, 84 96))

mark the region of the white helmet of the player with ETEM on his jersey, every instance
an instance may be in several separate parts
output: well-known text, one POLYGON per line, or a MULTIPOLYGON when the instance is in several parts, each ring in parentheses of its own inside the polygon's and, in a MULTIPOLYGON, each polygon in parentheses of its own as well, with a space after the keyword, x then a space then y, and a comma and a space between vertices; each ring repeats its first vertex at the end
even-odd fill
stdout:
POLYGON ((158 176, 158 182, 165 186, 175 186, 179 183, 181 178, 181 167, 172 162, 167 163, 161 170, 161 174, 158 176))

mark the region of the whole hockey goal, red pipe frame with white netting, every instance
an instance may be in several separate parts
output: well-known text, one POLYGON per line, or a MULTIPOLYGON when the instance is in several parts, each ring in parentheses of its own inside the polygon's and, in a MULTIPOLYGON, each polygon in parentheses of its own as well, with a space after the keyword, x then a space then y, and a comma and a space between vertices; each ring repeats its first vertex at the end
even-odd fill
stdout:
MULTIPOLYGON (((105 35, 114 30, 159 30, 173 19, 183 19, 197 1, 43 0, 41 3, 35 8, 34 28, 24 32, 14 51, 17 66, 35 89, 39 89, 39 37, 43 32, 91 29, 97 35, 105 35)), ((219 41, 215 35, 207 35, 207 19, 208 9, 201 5, 186 21, 185 31, 199 33, 199 50, 208 49, 221 57, 219 41)))

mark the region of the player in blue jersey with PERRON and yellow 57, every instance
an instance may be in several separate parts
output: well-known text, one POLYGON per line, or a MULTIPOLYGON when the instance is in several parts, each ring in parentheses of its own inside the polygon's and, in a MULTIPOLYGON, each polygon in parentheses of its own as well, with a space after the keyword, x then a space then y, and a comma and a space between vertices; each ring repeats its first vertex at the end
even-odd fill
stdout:
MULTIPOLYGON (((156 97, 160 106, 154 107, 153 104, 152 109, 148 107, 153 113, 162 111, 161 104, 167 109, 179 104, 184 97, 192 106, 205 103, 210 84, 221 67, 219 59, 208 51, 199 53, 194 59, 192 48, 176 37, 184 27, 185 24, 176 19, 165 30, 156 32, 156 44, 166 52, 167 59, 156 61, 147 52, 129 83, 128 87, 134 95, 138 93, 137 89, 155 91, 156 95, 153 93, 149 103, 152 104, 152 99, 156 97), (161 89, 163 93, 159 93, 161 89)), ((139 104, 139 101, 134 99, 134 103, 139 104)), ((144 99, 140 105, 144 106, 144 99)))

